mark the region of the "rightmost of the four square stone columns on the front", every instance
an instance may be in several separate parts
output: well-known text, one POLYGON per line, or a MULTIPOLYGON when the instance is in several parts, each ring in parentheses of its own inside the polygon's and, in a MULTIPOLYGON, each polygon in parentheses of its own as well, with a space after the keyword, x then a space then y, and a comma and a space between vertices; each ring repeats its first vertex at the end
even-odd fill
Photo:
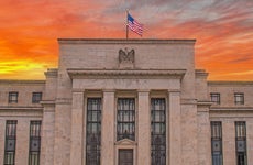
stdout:
POLYGON ((168 153, 170 165, 182 164, 180 92, 168 91, 168 153))

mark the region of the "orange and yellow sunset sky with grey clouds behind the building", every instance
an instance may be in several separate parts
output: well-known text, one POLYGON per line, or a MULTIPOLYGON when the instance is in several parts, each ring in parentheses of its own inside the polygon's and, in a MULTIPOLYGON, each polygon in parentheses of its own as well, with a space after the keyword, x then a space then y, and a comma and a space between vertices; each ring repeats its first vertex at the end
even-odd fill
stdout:
POLYGON ((209 80, 253 80, 253 0, 0 0, 0 79, 44 79, 59 37, 124 38, 127 10, 143 38, 196 38, 209 80))

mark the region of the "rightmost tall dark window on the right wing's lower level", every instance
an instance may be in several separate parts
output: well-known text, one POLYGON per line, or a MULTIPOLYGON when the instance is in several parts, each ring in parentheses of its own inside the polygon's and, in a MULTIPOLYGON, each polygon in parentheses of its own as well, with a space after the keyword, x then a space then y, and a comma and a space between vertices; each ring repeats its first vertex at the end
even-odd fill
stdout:
POLYGON ((235 146, 238 165, 246 165, 246 123, 235 121, 235 146))

